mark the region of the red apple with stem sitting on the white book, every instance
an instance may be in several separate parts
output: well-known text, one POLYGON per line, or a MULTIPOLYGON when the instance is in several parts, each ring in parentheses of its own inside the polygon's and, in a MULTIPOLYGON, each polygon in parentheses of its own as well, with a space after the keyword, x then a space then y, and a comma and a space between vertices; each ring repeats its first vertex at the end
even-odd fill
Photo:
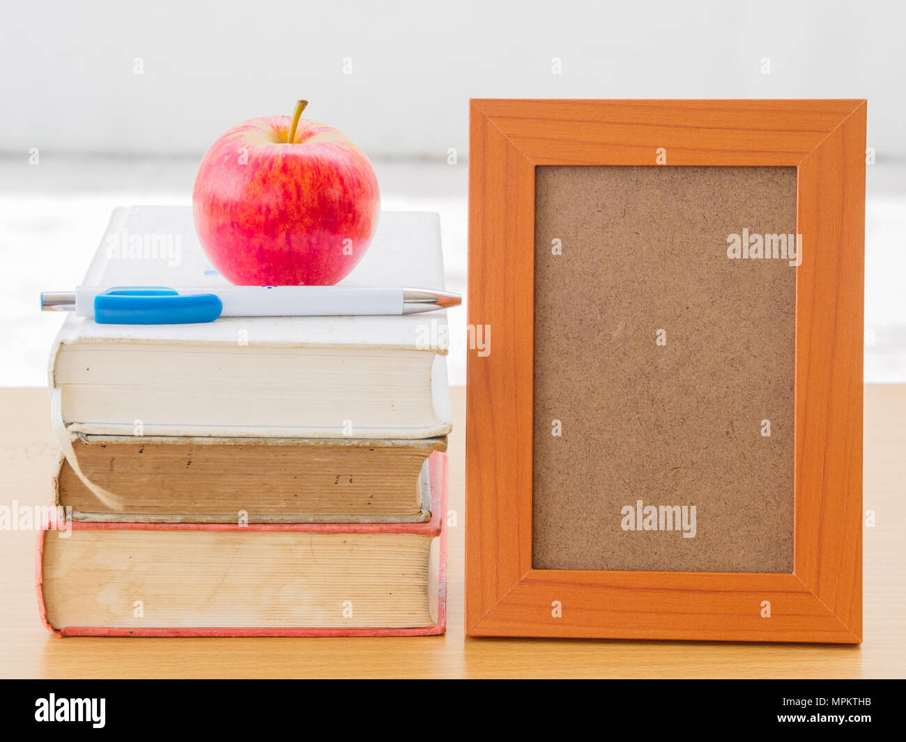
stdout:
POLYGON ((371 162, 340 131, 300 120, 304 106, 227 131, 198 168, 198 237, 233 284, 335 284, 371 243, 381 213, 371 162))

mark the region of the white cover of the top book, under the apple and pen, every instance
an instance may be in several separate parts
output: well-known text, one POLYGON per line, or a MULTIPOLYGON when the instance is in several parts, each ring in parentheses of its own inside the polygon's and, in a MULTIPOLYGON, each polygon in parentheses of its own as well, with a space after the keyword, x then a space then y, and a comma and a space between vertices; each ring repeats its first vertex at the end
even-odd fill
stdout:
MULTIPOLYGON (((113 212, 82 285, 226 286, 198 242, 191 207, 135 206, 113 212), (146 256, 147 255, 147 256, 146 256)), ((384 211, 359 265, 342 286, 411 286, 443 290, 439 217, 425 211, 384 211)), ((222 317, 201 324, 98 324, 67 317, 57 342, 119 342, 355 347, 447 353, 443 337, 423 338, 426 319, 446 323, 445 312, 400 316, 222 317), (426 343, 424 340, 428 341, 426 343)))

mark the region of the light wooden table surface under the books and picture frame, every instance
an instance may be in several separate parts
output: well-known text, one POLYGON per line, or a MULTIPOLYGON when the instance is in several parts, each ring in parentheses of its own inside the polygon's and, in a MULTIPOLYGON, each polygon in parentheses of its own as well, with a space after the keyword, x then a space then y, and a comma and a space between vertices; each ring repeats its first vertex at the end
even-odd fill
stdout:
MULTIPOLYGON (((449 442, 446 636, 393 639, 57 639, 38 621, 34 532, 0 531, 0 677, 13 678, 859 678, 906 675, 906 385, 865 388, 864 642, 466 639, 465 390, 449 442)), ((57 446, 43 389, 0 390, 0 506, 43 505, 57 446)))

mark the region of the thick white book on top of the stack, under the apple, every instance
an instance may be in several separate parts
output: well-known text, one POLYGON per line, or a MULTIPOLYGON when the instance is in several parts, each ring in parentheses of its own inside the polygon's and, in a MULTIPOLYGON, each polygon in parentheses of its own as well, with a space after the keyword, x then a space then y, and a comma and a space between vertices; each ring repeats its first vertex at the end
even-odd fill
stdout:
MULTIPOLYGON (((82 281, 228 285, 190 207, 113 212, 82 281)), ((444 289, 439 218, 383 212, 350 286, 444 289)), ((61 435, 432 438, 451 429, 443 311, 98 324, 67 316, 50 387, 61 435)))

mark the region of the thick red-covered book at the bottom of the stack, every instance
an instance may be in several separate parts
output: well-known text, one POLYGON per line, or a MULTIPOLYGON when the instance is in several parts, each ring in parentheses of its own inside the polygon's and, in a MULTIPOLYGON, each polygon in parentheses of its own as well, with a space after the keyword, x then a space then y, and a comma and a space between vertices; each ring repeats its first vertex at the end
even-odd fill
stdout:
POLYGON ((45 530, 41 618, 58 636, 443 633, 447 454, 433 453, 428 469, 427 523, 69 521, 45 530))

